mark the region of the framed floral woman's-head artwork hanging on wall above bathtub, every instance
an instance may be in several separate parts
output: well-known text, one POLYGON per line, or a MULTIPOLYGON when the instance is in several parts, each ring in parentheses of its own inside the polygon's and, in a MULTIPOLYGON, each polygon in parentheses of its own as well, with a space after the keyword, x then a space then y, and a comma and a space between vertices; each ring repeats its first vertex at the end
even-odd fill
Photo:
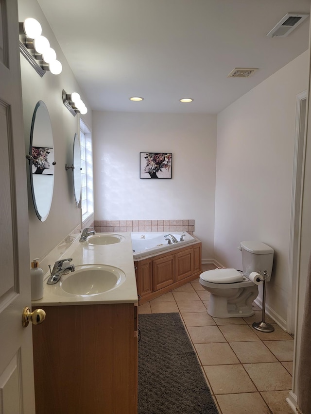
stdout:
POLYGON ((140 178, 172 178, 172 152, 140 152, 140 178))

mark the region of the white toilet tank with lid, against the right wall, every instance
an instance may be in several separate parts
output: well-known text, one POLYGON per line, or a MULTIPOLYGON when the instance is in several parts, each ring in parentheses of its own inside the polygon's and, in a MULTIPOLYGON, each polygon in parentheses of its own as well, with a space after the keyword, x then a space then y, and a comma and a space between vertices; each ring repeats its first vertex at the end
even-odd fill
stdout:
POLYGON ((240 243, 242 251, 243 274, 249 276, 251 272, 259 272, 266 270, 270 281, 274 249, 265 243, 257 241, 244 241, 240 243))

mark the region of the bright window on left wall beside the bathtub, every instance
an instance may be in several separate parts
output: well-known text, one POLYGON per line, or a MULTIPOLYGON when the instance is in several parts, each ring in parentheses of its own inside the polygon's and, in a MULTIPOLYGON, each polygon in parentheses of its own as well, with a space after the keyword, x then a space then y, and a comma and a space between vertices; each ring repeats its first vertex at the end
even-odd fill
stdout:
POLYGON ((80 119, 82 223, 94 211, 92 135, 80 119))

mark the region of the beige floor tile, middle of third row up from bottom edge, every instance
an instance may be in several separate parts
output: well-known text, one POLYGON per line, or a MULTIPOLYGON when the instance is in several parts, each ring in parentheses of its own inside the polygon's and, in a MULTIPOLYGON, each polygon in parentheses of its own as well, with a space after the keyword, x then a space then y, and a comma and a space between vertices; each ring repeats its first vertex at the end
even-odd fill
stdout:
POLYGON ((242 364, 277 362, 272 352, 261 342, 229 342, 242 364))

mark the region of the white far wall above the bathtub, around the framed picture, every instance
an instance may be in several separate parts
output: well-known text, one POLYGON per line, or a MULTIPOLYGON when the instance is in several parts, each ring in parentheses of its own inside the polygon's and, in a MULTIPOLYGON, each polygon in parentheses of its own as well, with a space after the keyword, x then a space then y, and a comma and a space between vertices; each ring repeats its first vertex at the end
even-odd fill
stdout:
POLYGON ((213 258, 216 116, 93 112, 95 220, 194 219, 213 258), (139 178, 139 152, 172 152, 172 179, 139 178))

